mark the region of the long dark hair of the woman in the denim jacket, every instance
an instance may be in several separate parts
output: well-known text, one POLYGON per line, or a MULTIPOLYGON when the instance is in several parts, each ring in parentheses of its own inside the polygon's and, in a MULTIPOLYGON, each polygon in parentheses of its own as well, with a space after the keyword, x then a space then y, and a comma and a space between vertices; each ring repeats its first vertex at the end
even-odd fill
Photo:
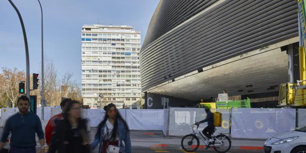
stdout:
MULTIPOLYGON (((105 110, 105 116, 103 121, 101 121, 98 125, 98 130, 97 133, 95 134, 95 137, 98 137, 100 139, 100 135, 101 135, 101 129, 102 127, 105 125, 107 119, 109 118, 109 116, 107 115, 107 112, 110 110, 110 108, 115 107, 115 110, 117 110, 116 105, 114 105, 113 103, 108 104, 106 107, 104 107, 105 110)), ((125 128, 127 131, 129 131, 129 127, 126 124, 125 120, 121 117, 121 115, 119 114, 118 110, 117 110, 117 115, 115 118, 115 124, 114 124, 114 129, 113 129, 113 133, 111 136, 111 140, 115 140, 116 135, 117 135, 117 131, 118 131, 118 119, 120 119, 121 121, 123 121, 125 128)))

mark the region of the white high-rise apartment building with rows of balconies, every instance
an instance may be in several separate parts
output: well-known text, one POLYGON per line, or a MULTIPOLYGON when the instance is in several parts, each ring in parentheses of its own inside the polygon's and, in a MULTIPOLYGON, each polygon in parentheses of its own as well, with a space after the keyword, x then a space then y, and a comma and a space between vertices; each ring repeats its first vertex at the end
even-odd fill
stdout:
POLYGON ((84 105, 136 106, 141 97, 140 32, 126 25, 95 24, 84 25, 81 37, 84 105))

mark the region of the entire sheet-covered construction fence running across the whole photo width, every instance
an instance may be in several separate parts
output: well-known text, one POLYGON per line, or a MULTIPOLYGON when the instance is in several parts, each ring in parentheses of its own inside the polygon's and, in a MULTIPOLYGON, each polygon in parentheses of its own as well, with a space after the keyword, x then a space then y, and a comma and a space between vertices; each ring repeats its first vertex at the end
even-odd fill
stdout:
MULTIPOLYGON (((44 108, 43 126, 50 117, 59 114, 59 108, 44 108)), ((192 132, 191 125, 195 121, 206 118, 201 108, 169 108, 169 109, 118 109, 121 117, 132 130, 162 130, 165 136, 184 136, 192 132)), ((306 109, 268 109, 268 108, 232 108, 211 109, 222 113, 222 127, 216 133, 229 134, 235 138, 267 138, 275 134, 306 126, 306 109)), ((18 108, 1 108, 0 127, 18 108)), ((41 118, 41 108, 37 108, 41 118)), ((82 109, 82 117, 88 119, 88 127, 97 127, 103 120, 103 109, 82 109)), ((204 129, 207 123, 199 126, 204 129)), ((90 128, 88 128, 90 129, 90 128)))

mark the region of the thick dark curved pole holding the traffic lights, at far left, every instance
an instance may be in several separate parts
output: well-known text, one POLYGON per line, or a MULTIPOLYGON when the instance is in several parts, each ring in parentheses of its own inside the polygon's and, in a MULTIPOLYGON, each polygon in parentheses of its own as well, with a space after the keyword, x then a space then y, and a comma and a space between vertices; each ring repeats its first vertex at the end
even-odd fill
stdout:
POLYGON ((20 24, 21 24, 21 28, 22 28, 22 33, 23 33, 23 39, 24 39, 24 47, 25 47, 25 60, 26 60, 26 65, 27 65, 27 97, 28 99, 30 99, 30 62, 29 62, 29 48, 28 48, 28 39, 27 39, 27 34, 25 33, 25 28, 24 28, 24 24, 23 24, 23 20, 21 17, 21 14, 19 12, 19 10, 17 9, 17 7, 14 5, 14 3, 11 0, 8 0, 9 3, 11 3, 11 5, 13 6, 13 8, 15 9, 15 11, 18 14, 19 20, 20 20, 20 24))

